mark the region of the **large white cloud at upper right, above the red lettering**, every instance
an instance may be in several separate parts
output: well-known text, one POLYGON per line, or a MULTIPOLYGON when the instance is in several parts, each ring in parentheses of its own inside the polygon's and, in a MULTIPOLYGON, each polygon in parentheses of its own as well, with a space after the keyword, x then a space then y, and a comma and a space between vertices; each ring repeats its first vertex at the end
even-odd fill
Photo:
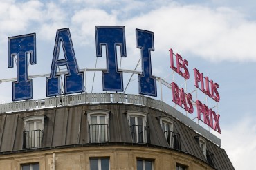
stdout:
POLYGON ((230 8, 172 3, 129 19, 125 25, 154 31, 160 51, 172 47, 210 61, 256 61, 256 23, 230 8))

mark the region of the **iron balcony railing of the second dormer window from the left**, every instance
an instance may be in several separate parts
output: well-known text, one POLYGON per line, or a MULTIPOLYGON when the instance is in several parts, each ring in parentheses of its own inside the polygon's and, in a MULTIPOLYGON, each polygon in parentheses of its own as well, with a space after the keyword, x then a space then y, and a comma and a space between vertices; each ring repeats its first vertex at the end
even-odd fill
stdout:
POLYGON ((108 124, 90 124, 89 142, 109 142, 108 124))

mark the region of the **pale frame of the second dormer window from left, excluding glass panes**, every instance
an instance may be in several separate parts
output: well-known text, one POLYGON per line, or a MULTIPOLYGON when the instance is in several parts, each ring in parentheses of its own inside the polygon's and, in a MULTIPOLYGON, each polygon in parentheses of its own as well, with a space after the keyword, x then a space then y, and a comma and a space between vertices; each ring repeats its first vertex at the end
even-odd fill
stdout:
POLYGON ((110 111, 107 111, 107 110, 93 110, 93 111, 86 111, 86 115, 87 115, 87 124, 88 124, 88 135, 89 135, 89 142, 91 142, 90 140, 91 139, 93 139, 93 133, 92 133, 92 131, 90 130, 90 125, 93 125, 92 124, 92 122, 91 122, 91 117, 92 116, 96 116, 97 118, 97 120, 96 120, 96 122, 97 122, 97 124, 100 124, 100 121, 98 122, 98 120, 100 119, 100 118, 98 118, 98 117, 100 117, 100 116, 104 116, 104 124, 106 124, 107 125, 107 128, 106 129, 104 129, 104 133, 105 133, 105 137, 104 137, 104 141, 101 141, 101 138, 100 138, 100 130, 97 128, 96 129, 96 135, 97 135, 97 138, 96 138, 96 140, 94 141, 92 141, 92 142, 108 142, 109 141, 109 113, 110 113, 110 111))

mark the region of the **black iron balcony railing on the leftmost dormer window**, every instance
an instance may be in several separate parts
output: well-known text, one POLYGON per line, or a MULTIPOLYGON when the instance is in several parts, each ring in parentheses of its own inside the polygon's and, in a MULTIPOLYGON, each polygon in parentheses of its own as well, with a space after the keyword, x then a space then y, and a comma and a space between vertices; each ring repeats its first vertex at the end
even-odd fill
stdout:
POLYGON ((23 148, 38 148, 42 147, 43 131, 24 131, 23 132, 23 148))

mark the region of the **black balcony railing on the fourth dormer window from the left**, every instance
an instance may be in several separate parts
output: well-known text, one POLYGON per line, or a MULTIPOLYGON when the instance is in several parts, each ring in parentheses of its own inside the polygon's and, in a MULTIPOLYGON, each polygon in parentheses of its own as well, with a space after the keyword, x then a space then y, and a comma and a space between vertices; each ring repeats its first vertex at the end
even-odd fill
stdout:
POLYGON ((171 148, 181 150, 181 135, 173 131, 165 131, 165 138, 171 148))

